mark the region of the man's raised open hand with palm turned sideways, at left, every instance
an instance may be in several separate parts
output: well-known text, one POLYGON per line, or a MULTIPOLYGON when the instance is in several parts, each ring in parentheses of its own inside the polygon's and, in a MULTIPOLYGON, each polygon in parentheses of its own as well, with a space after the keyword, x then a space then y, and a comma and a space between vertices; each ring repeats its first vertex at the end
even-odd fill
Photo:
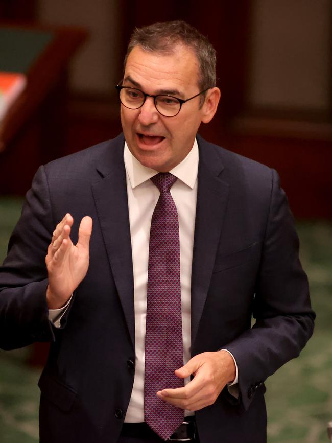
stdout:
POLYGON ((91 217, 83 217, 76 245, 70 240, 74 219, 66 214, 53 232, 45 262, 49 273, 46 301, 49 309, 62 308, 82 282, 89 266, 91 217))

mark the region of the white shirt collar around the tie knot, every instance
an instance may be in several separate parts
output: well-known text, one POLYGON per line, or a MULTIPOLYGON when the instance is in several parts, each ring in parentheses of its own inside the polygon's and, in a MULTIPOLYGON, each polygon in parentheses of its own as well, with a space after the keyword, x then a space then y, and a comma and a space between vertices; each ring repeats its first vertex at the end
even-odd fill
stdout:
MULTIPOLYGON (((189 188, 193 189, 197 179, 198 160, 198 144, 195 138, 195 142, 191 151, 189 151, 189 153, 181 161, 181 163, 171 169, 170 173, 183 181, 183 183, 189 186, 189 188)), ((146 166, 140 164, 137 158, 135 158, 129 151, 127 142, 125 142, 124 161, 126 172, 128 174, 130 185, 132 188, 136 188, 136 186, 138 186, 139 184, 149 180, 151 177, 158 174, 158 171, 147 168, 146 166)))

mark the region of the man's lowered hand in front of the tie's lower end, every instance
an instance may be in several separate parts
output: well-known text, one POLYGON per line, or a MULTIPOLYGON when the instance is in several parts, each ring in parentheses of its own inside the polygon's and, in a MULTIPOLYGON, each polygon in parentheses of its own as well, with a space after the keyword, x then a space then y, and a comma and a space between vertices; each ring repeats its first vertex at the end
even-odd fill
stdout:
POLYGON ((204 352, 177 369, 175 375, 182 379, 194 375, 194 379, 183 388, 158 391, 157 397, 178 408, 198 411, 215 403, 226 384, 234 381, 236 368, 227 351, 204 352))

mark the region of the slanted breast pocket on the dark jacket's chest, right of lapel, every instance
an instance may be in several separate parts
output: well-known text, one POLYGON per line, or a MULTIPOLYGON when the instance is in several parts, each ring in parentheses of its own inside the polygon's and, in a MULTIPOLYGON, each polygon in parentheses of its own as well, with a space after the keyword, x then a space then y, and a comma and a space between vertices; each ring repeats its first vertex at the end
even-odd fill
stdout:
POLYGON ((247 262, 260 259, 260 242, 251 243, 249 246, 228 254, 217 254, 213 272, 226 271, 227 269, 241 266, 247 262))

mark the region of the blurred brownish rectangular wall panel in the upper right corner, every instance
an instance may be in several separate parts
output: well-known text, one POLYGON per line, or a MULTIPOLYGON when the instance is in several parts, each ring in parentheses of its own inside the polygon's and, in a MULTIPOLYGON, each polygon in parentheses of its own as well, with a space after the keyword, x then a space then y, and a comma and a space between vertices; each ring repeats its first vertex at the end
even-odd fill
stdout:
POLYGON ((249 106, 325 110, 331 83, 330 0, 255 0, 249 106))

